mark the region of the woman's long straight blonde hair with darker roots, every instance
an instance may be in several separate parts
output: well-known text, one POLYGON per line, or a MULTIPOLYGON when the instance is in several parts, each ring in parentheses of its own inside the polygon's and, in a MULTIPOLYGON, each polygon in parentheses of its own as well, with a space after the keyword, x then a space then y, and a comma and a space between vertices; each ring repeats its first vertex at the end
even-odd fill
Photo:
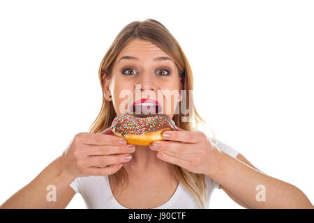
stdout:
MULTIPOLYGON (((174 114, 172 119, 176 125, 183 130, 197 130, 197 123, 204 123, 204 120, 199 114, 197 114, 193 100, 191 100, 193 95, 190 91, 188 91, 193 90, 193 74, 190 64, 188 63, 188 59, 186 58, 186 55, 177 40, 175 40, 170 31, 168 31, 163 24, 156 20, 148 19, 144 21, 131 22, 120 31, 100 63, 98 75, 101 88, 103 89, 103 78, 110 78, 112 67, 117 55, 128 43, 128 41, 134 38, 151 41, 174 60, 179 72, 179 77, 183 83, 183 90, 186 90, 186 107, 190 109, 188 114, 183 115, 180 111, 179 114, 174 114), (190 121, 188 122, 183 122, 182 117, 184 116, 192 118, 190 118, 190 121)), ((180 104, 178 106, 180 106, 180 104)), ((99 133, 106 128, 109 128, 116 116, 117 114, 114 111, 112 102, 105 100, 103 96, 103 104, 100 112, 94 123, 92 123, 89 128, 89 132, 99 133)), ((186 187, 187 190, 195 196, 197 203, 199 203, 202 208, 208 208, 204 174, 195 174, 174 164, 171 166, 174 177, 177 178, 177 180, 179 180, 182 185, 184 185, 184 187, 186 187)), ((110 175, 110 177, 116 178, 119 185, 128 184, 128 174, 126 173, 124 167, 116 173, 110 175)))

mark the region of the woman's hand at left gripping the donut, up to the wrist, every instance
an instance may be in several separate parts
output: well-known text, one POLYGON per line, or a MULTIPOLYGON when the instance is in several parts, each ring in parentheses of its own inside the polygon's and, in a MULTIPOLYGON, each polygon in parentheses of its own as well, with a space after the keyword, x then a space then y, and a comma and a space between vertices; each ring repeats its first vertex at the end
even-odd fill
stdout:
POLYGON ((99 134, 81 132, 61 155, 62 171, 72 178, 114 174, 134 151, 135 146, 115 136, 110 128, 99 134))

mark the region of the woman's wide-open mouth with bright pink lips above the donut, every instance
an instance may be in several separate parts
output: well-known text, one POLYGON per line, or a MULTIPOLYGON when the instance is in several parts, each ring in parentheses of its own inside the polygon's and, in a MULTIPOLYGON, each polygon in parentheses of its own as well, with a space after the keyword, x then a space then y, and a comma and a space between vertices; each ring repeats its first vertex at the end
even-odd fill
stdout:
POLYGON ((157 114, 161 110, 162 107, 158 101, 148 98, 137 100, 130 106, 130 112, 135 112, 135 114, 157 114))

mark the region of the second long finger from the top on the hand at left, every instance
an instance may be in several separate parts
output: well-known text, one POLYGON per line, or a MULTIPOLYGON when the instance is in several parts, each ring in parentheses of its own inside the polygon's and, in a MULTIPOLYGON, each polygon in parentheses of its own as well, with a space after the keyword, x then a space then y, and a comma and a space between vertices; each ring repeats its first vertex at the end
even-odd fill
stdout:
POLYGON ((119 153, 133 153, 134 151, 135 146, 130 144, 126 146, 87 146, 87 155, 111 155, 119 153))

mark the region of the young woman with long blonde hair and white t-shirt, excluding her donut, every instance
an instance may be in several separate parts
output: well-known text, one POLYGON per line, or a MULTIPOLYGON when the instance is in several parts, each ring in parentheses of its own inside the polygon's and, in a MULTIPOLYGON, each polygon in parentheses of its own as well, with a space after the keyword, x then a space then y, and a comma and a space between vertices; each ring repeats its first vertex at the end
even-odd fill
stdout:
MULTIPOLYGON (((264 174, 195 129, 202 118, 190 100, 192 71, 177 41, 156 20, 124 27, 100 64, 99 79, 103 105, 90 131, 76 134, 62 155, 1 208, 66 208, 75 192, 88 208, 208 208, 214 188, 245 208, 313 208, 297 187, 264 174), (133 146, 112 134, 126 90, 177 91, 167 116, 178 130, 164 132, 165 140, 150 146, 133 146), (183 100, 189 113, 177 114, 183 100), (47 199, 48 185, 55 186, 56 201, 47 199)), ((165 110, 169 103, 160 106, 165 110)))

